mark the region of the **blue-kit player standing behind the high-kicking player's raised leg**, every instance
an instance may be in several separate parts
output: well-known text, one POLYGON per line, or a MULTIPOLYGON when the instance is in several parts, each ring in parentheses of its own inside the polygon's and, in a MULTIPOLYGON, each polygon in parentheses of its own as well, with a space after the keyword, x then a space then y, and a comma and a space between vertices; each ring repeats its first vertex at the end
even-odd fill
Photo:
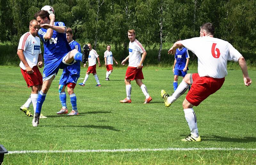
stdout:
MULTIPOLYGON (((81 46, 79 43, 73 40, 73 32, 71 28, 67 28, 66 36, 68 44, 70 45, 71 49, 76 49, 78 52, 81 51, 81 46)), ((76 94, 74 93, 74 88, 76 86, 76 82, 80 76, 80 62, 76 61, 74 64, 69 65, 63 69, 63 73, 60 77, 59 83, 59 95, 60 95, 60 103, 61 103, 61 110, 57 112, 57 114, 67 114, 67 96, 65 92, 65 88, 67 86, 68 95, 70 97, 70 102, 72 105, 72 111, 68 115, 78 115, 77 107, 76 107, 76 94)))

